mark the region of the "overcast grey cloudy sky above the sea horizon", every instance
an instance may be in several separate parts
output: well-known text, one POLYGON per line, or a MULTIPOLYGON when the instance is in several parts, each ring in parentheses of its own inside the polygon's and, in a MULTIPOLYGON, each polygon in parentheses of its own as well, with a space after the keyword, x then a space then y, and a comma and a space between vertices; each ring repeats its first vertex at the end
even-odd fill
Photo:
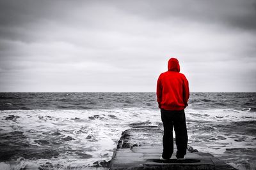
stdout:
POLYGON ((256 1, 0 0, 0 92, 256 92, 256 1))

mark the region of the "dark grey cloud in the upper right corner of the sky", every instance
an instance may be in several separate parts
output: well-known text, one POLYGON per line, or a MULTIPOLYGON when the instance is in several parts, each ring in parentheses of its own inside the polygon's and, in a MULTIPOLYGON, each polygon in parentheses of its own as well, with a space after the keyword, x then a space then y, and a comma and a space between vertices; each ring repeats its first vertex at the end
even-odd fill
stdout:
POLYGON ((113 3, 128 13, 148 20, 170 22, 173 18, 255 31, 256 1, 119 1, 113 3))

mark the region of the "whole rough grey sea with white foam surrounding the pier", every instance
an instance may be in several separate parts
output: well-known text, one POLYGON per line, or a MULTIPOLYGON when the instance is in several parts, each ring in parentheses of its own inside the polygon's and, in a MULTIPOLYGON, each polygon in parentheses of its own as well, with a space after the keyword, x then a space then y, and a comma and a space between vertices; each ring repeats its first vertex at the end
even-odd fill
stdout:
MULTIPOLYGON (((256 169, 255 99, 191 93, 189 145, 256 169)), ((139 122, 163 129, 155 93, 0 93, 0 169, 108 169, 121 133, 139 122)))

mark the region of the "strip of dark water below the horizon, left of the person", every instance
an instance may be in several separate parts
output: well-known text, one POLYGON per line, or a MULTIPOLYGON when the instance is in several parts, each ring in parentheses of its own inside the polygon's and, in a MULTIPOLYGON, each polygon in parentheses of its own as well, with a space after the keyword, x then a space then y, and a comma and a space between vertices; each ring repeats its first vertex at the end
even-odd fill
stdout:
POLYGON ((0 110, 156 107, 154 93, 0 93, 0 110))

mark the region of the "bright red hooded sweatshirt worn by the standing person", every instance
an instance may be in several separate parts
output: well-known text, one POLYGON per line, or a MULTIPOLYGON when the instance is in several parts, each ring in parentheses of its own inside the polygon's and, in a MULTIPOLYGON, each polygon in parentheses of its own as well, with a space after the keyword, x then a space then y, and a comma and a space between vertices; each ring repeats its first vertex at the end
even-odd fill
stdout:
POLYGON ((171 58, 168 71, 161 73, 157 80, 157 102, 164 110, 184 110, 188 106, 188 80, 180 72, 179 61, 171 58))

